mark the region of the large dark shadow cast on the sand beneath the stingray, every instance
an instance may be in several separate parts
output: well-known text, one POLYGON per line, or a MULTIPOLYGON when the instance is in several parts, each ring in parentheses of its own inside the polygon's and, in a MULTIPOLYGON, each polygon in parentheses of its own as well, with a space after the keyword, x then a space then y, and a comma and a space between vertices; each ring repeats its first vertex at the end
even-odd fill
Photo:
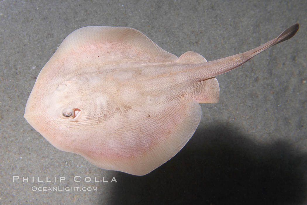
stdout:
POLYGON ((307 153, 284 141, 256 144, 236 130, 226 125, 197 129, 153 172, 116 172, 111 204, 303 204, 307 153))

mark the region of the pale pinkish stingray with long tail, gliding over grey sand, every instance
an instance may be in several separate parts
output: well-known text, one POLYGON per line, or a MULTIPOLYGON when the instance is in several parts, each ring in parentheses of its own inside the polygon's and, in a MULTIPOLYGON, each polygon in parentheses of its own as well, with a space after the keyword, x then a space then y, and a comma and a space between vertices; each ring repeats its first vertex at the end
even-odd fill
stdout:
POLYGON ((92 164, 145 175, 188 142, 199 103, 217 103, 215 76, 291 38, 298 24, 253 50, 207 62, 179 58, 138 30, 89 26, 72 32, 37 77, 24 117, 56 148, 92 164))

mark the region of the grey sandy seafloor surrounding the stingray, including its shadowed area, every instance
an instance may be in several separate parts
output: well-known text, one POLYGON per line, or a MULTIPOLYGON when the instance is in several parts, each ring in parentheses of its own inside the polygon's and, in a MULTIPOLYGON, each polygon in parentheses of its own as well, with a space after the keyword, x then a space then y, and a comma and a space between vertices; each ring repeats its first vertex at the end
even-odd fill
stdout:
POLYGON ((305 204, 306 8, 303 0, 0 1, 0 204, 305 204), (132 27, 177 56, 191 50, 209 61, 255 48, 295 23, 292 39, 217 77, 220 102, 202 104, 191 140, 146 176, 60 151, 23 118, 41 68, 80 27, 132 27))

